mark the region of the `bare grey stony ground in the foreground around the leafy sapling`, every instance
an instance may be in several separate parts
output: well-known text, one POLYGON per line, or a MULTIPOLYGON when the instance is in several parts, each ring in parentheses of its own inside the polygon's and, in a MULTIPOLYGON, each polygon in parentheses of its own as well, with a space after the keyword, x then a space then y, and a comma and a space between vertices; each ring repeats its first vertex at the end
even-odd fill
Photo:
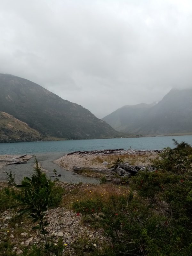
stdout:
MULTIPOLYGON (((0 184, 3 189, 6 184, 0 184)), ((75 184, 60 183, 60 186, 71 191, 76 188, 75 184)), ((82 185, 87 186, 87 185, 82 185)), ((82 187, 83 188, 83 187, 82 187)), ((65 197, 65 196, 64 196, 65 197)), ((31 247, 32 244, 44 242, 44 237, 38 231, 32 231, 33 223, 25 216, 22 219, 15 219, 16 210, 14 208, 7 209, 0 213, 0 242, 1 239, 6 239, 9 236, 13 244, 13 251, 17 254, 23 252, 24 246, 31 247)), ((99 246, 103 241, 109 239, 103 236, 103 230, 94 230, 90 225, 83 224, 82 216, 79 213, 73 212, 68 207, 57 207, 47 211, 46 217, 50 222, 47 227, 48 239, 52 243, 57 244, 61 238, 65 244, 65 252, 63 255, 76 255, 74 248, 71 246, 78 238, 88 239, 94 246, 99 246), (98 243, 96 241, 99 241, 98 243)))

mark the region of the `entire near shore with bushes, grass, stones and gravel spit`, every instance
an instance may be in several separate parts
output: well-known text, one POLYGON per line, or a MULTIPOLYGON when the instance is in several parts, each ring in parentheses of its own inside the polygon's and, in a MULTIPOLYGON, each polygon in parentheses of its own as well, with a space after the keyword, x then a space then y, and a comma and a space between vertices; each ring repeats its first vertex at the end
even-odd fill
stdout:
POLYGON ((68 170, 116 172, 116 183, 103 173, 99 185, 51 181, 36 158, 21 184, 8 175, 0 184, 1 254, 190 255, 192 148, 174 142, 161 152, 81 151, 57 160, 68 170))

